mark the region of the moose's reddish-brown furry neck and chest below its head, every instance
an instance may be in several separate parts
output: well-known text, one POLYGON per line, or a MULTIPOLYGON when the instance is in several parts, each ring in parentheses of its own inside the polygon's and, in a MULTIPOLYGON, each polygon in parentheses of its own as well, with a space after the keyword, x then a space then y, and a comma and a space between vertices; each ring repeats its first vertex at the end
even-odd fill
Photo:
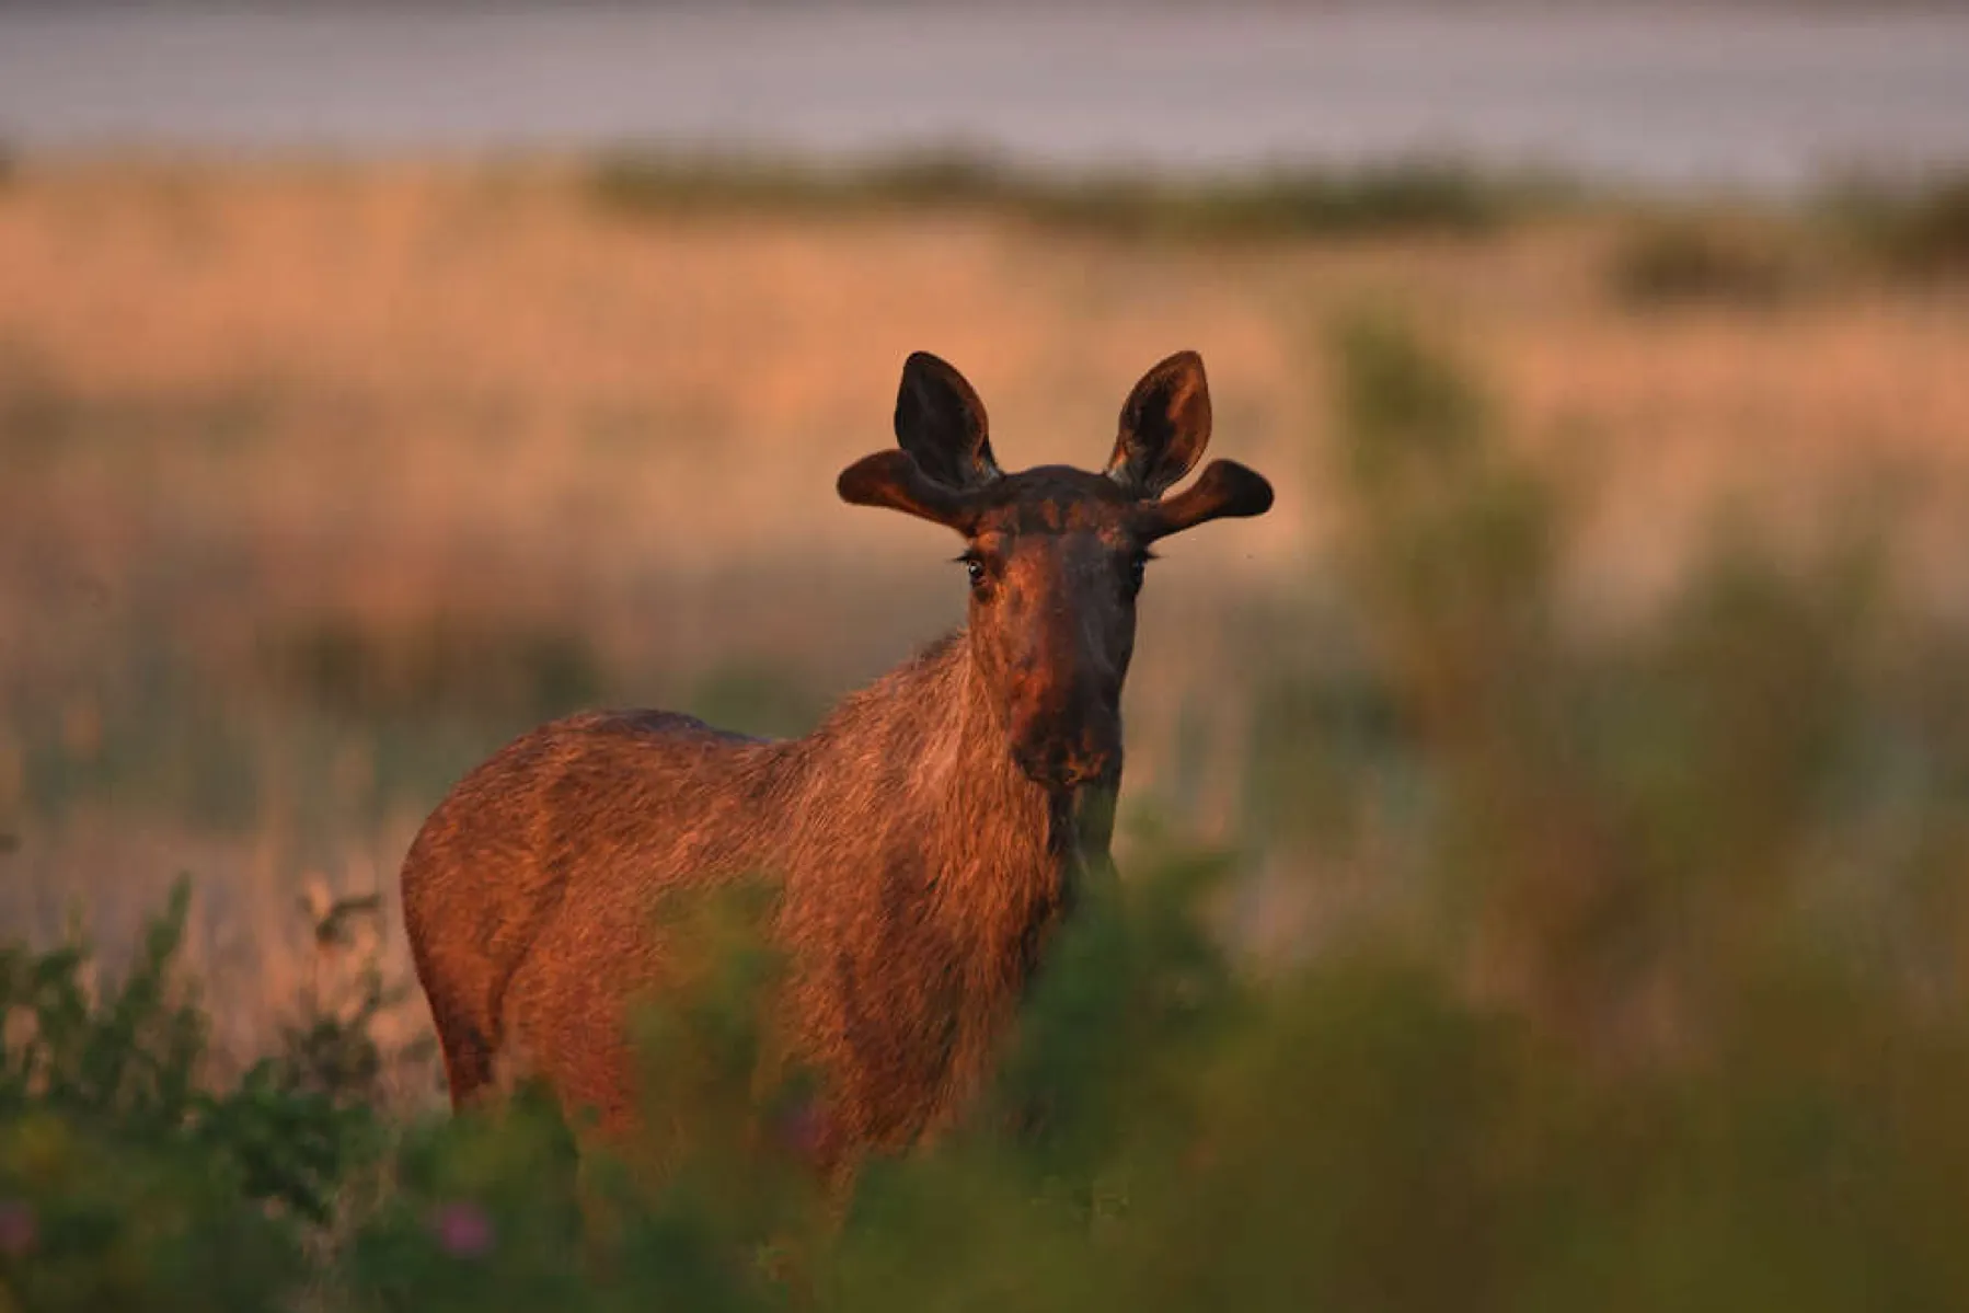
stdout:
POLYGON ((788 933, 829 945, 803 967, 807 1024, 823 1063, 843 1055, 857 1134, 902 1144, 986 1079, 1053 927, 1107 868, 1112 791, 1055 793, 1014 764, 965 632, 788 750, 788 933))

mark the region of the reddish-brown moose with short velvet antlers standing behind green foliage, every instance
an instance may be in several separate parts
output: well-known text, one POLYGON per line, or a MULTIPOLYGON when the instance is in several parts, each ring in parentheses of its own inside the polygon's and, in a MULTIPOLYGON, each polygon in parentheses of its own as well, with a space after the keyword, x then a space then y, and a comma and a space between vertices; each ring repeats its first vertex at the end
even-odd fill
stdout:
POLYGON ((662 711, 549 722, 476 766, 404 860, 404 923, 463 1108, 514 1065, 569 1112, 628 1130, 634 998, 673 945, 656 900, 768 872, 788 965, 772 1024, 821 1077, 815 1156, 906 1148, 986 1079, 1049 933, 1107 870, 1120 693, 1150 545, 1258 516, 1272 486, 1203 455, 1203 360, 1152 368, 1099 474, 1006 474, 984 406, 916 352, 900 449, 841 472, 965 539, 969 622, 847 695, 805 738, 662 711))

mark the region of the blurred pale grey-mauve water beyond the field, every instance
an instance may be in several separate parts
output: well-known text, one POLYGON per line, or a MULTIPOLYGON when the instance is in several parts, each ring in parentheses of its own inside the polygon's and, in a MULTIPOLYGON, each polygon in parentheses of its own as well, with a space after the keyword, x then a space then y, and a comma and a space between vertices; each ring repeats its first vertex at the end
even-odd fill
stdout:
POLYGON ((1453 157, 1796 191, 1969 161, 1963 69, 1969 6, 0 4, 0 144, 819 163, 955 148, 1191 177, 1453 157))

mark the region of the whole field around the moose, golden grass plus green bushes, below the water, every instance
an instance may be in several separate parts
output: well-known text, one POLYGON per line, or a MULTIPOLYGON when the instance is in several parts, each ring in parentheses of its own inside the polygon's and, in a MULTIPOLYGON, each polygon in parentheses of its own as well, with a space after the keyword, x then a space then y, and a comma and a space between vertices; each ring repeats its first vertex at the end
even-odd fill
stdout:
POLYGON ((0 1313, 1959 1307, 1961 187, 1404 177, 0 175, 0 1313), (431 1116, 449 783, 803 730, 963 610, 833 496, 902 358, 1093 465, 1181 346, 1278 506, 1154 565, 1126 888, 979 1118, 829 1213, 723 994, 654 1187, 431 1116))

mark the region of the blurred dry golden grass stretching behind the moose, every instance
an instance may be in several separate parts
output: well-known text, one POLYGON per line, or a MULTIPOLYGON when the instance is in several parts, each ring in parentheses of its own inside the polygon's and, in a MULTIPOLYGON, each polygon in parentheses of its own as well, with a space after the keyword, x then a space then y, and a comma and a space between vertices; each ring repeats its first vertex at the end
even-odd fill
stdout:
POLYGON ((979 384, 1012 465, 1101 459, 1142 368, 1209 362, 1219 451, 1282 498, 1172 545, 1130 683, 1130 791, 1207 835, 1239 807, 1227 685, 1319 579, 1321 335, 1349 307, 1418 311, 1524 443, 1589 472, 1595 604, 1646 598, 1721 494, 1815 533, 1882 474, 1918 565, 1959 583, 1963 295, 1831 260, 1780 305, 1636 313, 1607 281, 1624 222, 1175 244, 634 217, 557 163, 30 163, 0 189, 0 913, 51 933, 81 894, 114 941, 191 868, 246 1051, 313 970, 301 880, 388 890, 443 772, 506 728, 388 783, 396 740, 262 687, 270 642, 323 616, 541 624, 636 701, 732 661, 823 699, 900 657, 957 616, 947 543, 843 508, 833 476, 890 441, 920 346, 979 384), (158 707, 179 695, 185 724, 158 707), (128 783, 203 752, 207 715, 252 776, 221 821, 128 783), (122 774, 95 770, 118 742, 122 774))

